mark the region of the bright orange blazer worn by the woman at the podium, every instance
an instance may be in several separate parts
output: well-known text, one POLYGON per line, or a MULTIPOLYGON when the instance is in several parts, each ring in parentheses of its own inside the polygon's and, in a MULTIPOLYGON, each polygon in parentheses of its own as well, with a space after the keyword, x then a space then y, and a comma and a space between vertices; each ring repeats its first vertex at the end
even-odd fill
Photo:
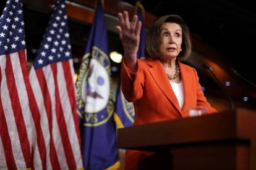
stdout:
MULTIPOLYGON (((178 62, 184 91, 184 105, 179 107, 169 79, 160 60, 138 59, 137 70, 132 72, 122 62, 121 85, 126 100, 134 103, 134 125, 166 121, 189 116, 188 109, 198 105, 210 106, 198 82, 197 71, 178 62)), ((126 151, 126 170, 137 169, 140 161, 150 152, 126 151)))

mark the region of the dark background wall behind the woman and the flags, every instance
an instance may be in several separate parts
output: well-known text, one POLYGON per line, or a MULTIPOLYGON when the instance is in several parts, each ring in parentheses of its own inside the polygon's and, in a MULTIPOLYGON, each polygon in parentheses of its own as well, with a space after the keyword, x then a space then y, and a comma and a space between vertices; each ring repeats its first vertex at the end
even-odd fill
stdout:
MULTIPOLYGON (((52 0, 25 0, 23 10, 25 18, 25 33, 28 51, 28 65, 33 62, 36 51, 45 33, 51 16, 52 0)), ((0 11, 6 1, 0 2, 0 11)), ((87 43, 90 26, 93 20, 95 1, 74 0, 66 1, 69 16, 70 39, 72 54, 77 72, 80 59, 87 43)), ((135 1, 105 0, 106 23, 108 27, 109 52, 117 51, 122 54, 122 45, 117 31, 117 12, 128 10, 134 14, 135 1)), ((208 70, 202 67, 207 63, 213 68, 220 80, 224 91, 236 103, 237 107, 256 109, 256 12, 250 1, 203 1, 203 0, 172 0, 172 1, 142 1, 147 11, 145 27, 148 29, 153 21, 161 15, 177 14, 184 18, 192 33, 193 52, 188 65, 195 67, 200 77, 200 83, 205 87, 205 94, 213 105, 220 110, 228 109, 229 102, 224 92, 208 70), (248 79, 233 75, 237 73, 248 79), (226 81, 231 83, 226 86, 226 81), (244 101, 247 97, 247 101, 244 101)), ((112 62, 113 81, 118 86, 120 64, 112 62)))

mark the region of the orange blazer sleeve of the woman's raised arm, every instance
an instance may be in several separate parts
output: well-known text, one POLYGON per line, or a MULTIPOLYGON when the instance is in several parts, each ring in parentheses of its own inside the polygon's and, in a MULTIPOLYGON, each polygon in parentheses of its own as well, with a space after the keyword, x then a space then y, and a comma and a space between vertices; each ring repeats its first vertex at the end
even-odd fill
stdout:
POLYGON ((144 83, 145 76, 142 70, 142 63, 137 60, 137 69, 132 72, 123 61, 121 70, 121 89, 128 102, 135 102, 142 97, 144 83))

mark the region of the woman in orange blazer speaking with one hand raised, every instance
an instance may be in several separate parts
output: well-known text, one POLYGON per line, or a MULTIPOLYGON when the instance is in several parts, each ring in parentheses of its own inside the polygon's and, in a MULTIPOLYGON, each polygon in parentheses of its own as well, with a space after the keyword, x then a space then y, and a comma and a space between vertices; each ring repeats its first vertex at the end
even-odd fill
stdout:
MULTIPOLYGON (((210 106, 198 83, 197 71, 180 62, 189 57, 191 42, 189 28, 178 15, 160 17, 148 31, 145 53, 148 59, 137 59, 141 22, 134 15, 118 14, 116 26, 124 46, 121 83, 122 92, 134 103, 134 125, 186 118, 189 108, 210 106)), ((150 152, 127 150, 126 169, 139 169, 150 152)))

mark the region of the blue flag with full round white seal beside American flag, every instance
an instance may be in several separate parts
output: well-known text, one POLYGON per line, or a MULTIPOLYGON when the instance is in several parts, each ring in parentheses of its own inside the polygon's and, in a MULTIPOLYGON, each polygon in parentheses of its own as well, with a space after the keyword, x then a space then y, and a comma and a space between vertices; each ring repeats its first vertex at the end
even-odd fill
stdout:
POLYGON ((98 1, 76 82, 85 169, 117 169, 120 164, 108 54, 104 11, 98 1))

